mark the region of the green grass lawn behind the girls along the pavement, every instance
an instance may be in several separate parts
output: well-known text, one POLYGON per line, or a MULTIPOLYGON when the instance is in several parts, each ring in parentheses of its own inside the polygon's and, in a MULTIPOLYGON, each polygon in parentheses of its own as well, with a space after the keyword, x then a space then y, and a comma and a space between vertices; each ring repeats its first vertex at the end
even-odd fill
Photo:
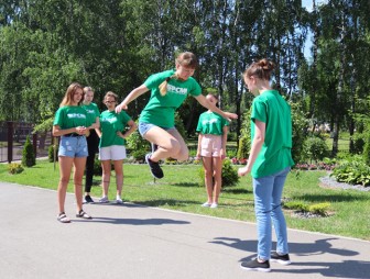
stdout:
MULTIPOLYGON (((254 222, 251 178, 243 177, 236 187, 222 190, 219 208, 202 208, 206 201, 205 189, 199 187, 199 165, 164 165, 165 178, 153 182, 146 165, 124 165, 123 200, 203 215, 254 222)), ((113 174, 113 172, 112 172, 113 174)), ((22 174, 9 175, 8 165, 0 164, 0 180, 20 185, 56 189, 59 178, 58 166, 46 160, 25 168, 22 174)), ((319 177, 325 171, 292 171, 289 175, 284 199, 308 204, 329 202, 327 217, 300 219, 285 211, 287 226, 311 232, 350 236, 370 241, 370 192, 328 189, 319 187, 319 177)), ((95 177, 92 196, 100 197, 100 177, 95 177)), ((111 179, 109 198, 115 198, 115 178, 111 179)), ((68 191, 73 191, 69 183, 68 191)), ((55 204, 56 209, 56 204, 55 204)))

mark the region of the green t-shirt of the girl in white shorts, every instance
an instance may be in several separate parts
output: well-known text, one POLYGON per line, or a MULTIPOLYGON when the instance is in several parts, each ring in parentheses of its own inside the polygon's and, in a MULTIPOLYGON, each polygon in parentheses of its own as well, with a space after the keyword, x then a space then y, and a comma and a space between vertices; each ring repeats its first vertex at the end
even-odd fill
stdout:
POLYGON ((131 118, 121 111, 117 113, 116 111, 106 110, 100 114, 100 131, 101 137, 99 147, 108 147, 112 145, 126 145, 126 140, 118 136, 117 132, 122 132, 127 123, 131 118))

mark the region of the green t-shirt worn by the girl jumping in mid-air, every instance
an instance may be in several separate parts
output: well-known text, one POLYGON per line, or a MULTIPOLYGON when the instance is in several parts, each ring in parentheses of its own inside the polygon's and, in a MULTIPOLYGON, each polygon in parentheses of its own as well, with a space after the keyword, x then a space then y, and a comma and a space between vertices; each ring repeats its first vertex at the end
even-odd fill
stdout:
POLYGON ((174 72, 174 70, 166 70, 154 74, 145 80, 144 85, 152 92, 148 104, 141 112, 140 122, 162 127, 174 127, 175 110, 184 102, 187 94, 196 97, 202 93, 199 83, 189 77, 185 81, 172 78, 167 85, 167 93, 161 96, 159 86, 174 72))

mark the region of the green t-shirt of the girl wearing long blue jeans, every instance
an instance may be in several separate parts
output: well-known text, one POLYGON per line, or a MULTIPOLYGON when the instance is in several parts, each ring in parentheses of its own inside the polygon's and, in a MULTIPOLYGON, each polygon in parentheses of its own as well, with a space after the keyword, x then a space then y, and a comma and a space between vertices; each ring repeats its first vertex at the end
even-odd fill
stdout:
POLYGON ((255 130, 254 120, 265 123, 264 143, 254 161, 251 176, 265 177, 293 166, 291 108, 276 90, 264 91, 254 98, 251 120, 252 140, 255 130))

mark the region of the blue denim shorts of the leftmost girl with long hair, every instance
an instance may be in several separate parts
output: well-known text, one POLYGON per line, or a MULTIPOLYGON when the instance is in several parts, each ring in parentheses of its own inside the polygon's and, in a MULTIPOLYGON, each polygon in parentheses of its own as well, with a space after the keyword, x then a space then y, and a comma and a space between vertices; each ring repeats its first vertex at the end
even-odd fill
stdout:
POLYGON ((87 157, 87 142, 85 136, 62 136, 58 156, 65 157, 87 157))

